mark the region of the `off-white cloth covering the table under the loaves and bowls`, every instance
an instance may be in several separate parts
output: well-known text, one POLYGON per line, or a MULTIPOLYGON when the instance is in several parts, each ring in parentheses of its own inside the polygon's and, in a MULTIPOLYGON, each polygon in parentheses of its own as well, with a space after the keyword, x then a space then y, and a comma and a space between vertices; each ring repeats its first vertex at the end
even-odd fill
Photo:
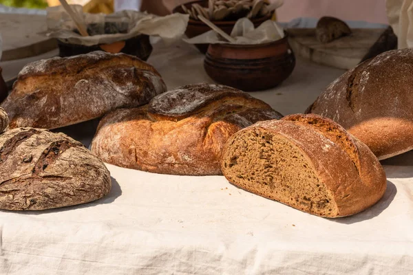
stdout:
MULTIPOLYGON (((211 81, 202 55, 189 45, 158 43, 149 62, 169 88, 211 81)), ((341 73, 298 61, 280 87, 253 96, 284 115, 303 112, 341 73)), ((96 122, 65 131, 87 144, 91 125, 96 122)), ((113 188, 104 199, 43 212, 0 212, 0 273, 412 274, 413 154, 384 164, 383 199, 341 219, 258 197, 224 177, 108 165, 113 188)))

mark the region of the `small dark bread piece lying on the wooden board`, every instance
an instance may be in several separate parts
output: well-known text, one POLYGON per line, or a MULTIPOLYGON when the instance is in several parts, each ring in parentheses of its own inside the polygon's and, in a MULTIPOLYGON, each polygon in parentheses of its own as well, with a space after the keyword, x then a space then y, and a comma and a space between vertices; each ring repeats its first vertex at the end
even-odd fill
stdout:
POLYGON ((329 43, 348 34, 351 30, 346 22, 335 17, 321 17, 315 28, 315 36, 321 43, 329 43))

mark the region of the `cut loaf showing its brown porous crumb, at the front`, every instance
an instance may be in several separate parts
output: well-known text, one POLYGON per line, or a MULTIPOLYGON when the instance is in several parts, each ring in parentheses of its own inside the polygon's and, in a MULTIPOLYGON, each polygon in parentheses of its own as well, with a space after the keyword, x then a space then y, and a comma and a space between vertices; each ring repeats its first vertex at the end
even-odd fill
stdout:
POLYGON ((319 115, 288 115, 243 129, 224 146, 222 173, 257 195, 321 217, 344 217, 384 195, 369 148, 319 115))

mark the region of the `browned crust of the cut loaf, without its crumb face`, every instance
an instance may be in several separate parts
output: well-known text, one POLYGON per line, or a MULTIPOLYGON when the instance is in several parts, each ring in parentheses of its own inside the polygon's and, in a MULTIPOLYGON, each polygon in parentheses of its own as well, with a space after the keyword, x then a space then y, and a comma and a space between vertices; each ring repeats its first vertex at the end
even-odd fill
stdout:
MULTIPOLYGON (((244 153, 248 157, 248 152, 244 153)), ((383 197, 386 188, 384 170, 369 148, 337 123, 319 115, 288 115, 282 120, 258 122, 239 131, 224 146, 221 165, 224 176, 231 183, 257 195, 323 217, 344 217, 361 212, 377 203, 383 197), (243 184, 244 181, 240 181, 240 177, 231 172, 229 164, 234 157, 237 140, 253 131, 262 135, 281 137, 299 148, 312 164, 319 183, 326 186, 326 190, 334 199, 335 208, 324 213, 315 212, 313 201, 310 206, 297 207, 292 205, 289 198, 277 198, 273 192, 264 192, 260 184, 243 184)), ((303 169, 296 168, 297 171, 303 169)), ((267 168, 265 171, 271 172, 271 169, 273 168, 267 168)), ((241 175, 243 178, 251 173, 247 169, 244 170, 246 175, 241 175)), ((272 184, 275 185, 275 190, 279 188, 279 182, 272 184)))

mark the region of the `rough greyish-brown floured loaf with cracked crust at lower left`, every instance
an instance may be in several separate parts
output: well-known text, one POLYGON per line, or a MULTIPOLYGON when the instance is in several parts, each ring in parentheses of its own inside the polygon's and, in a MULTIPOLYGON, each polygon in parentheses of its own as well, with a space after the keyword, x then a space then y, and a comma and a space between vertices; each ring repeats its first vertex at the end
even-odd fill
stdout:
POLYGON ((0 135, 0 209, 73 206, 110 188, 105 164, 63 133, 17 128, 0 135))

